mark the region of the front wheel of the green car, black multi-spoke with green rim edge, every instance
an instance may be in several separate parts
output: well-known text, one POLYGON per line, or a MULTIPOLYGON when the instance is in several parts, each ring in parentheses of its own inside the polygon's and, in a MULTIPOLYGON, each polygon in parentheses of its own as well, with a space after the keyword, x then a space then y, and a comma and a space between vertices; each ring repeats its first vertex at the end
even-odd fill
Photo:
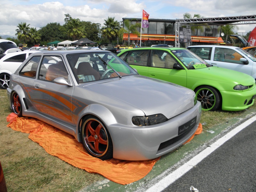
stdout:
POLYGON ((211 86, 200 86, 196 88, 196 99, 201 102, 202 110, 215 111, 220 108, 220 93, 211 86))

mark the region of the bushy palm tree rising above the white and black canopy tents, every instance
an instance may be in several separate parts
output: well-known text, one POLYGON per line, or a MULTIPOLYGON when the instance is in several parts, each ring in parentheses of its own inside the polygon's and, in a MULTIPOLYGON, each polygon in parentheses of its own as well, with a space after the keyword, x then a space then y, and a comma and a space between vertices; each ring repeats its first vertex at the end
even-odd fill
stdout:
POLYGON ((80 19, 72 19, 67 23, 67 34, 72 40, 84 38, 85 28, 82 27, 80 19))

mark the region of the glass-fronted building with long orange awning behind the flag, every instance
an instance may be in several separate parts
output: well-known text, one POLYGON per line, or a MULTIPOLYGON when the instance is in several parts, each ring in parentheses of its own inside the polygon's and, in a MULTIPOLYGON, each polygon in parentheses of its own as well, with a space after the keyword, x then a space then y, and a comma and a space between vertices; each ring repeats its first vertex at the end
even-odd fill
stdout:
MULTIPOLYGON (((132 24, 141 23, 141 19, 138 18, 123 18, 123 20, 131 20, 132 24)), ((142 28, 141 46, 151 46, 155 44, 168 44, 172 46, 175 45, 176 20, 148 19, 148 21, 149 27, 142 28)), ((138 28, 139 32, 140 30, 141 29, 138 28)), ((191 44, 223 43, 220 33, 220 26, 218 25, 201 25, 199 27, 191 25, 191 44)), ((127 36, 128 34, 124 33, 124 44, 127 44, 127 36)), ((140 36, 130 34, 130 41, 132 44, 140 44, 140 36)))

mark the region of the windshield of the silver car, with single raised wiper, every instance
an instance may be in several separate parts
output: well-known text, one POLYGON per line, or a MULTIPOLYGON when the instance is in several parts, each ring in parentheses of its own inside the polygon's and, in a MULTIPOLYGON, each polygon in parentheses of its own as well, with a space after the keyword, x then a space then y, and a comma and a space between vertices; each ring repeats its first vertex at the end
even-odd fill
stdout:
POLYGON ((74 53, 67 59, 79 84, 138 74, 112 52, 74 53))

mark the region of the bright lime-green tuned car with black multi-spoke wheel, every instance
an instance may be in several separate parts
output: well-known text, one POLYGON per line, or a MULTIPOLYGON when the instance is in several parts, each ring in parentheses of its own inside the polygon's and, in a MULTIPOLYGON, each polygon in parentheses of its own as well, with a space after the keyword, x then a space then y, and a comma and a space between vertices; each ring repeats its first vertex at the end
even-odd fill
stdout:
POLYGON ((140 75, 192 89, 203 110, 240 111, 252 106, 256 97, 252 76, 213 67, 188 49, 141 47, 122 50, 118 56, 140 75))

